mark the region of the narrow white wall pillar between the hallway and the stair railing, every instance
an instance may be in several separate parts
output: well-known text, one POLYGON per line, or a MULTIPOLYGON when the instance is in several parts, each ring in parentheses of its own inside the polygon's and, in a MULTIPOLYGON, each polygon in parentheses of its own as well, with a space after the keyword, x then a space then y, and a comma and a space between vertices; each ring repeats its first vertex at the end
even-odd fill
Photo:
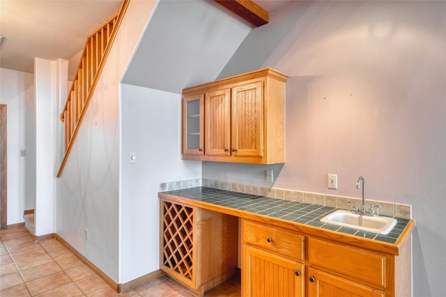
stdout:
POLYGON ((59 110, 67 97, 68 61, 34 59, 36 93, 36 211, 34 235, 56 231, 56 172, 59 151, 59 110))

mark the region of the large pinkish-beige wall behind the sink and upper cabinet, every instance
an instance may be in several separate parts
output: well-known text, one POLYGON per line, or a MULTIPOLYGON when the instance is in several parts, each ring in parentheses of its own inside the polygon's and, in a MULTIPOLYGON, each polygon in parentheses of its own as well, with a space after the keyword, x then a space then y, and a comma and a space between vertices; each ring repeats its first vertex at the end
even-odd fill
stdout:
POLYGON ((273 67, 291 76, 286 163, 203 162, 203 178, 263 185, 263 170, 275 168, 270 186, 360 197, 362 175, 366 198, 412 204, 413 296, 443 296, 445 32, 444 1, 296 1, 272 13, 225 75, 273 67), (270 38, 275 30, 283 40, 270 38), (260 41, 275 50, 257 55, 260 41), (328 173, 338 175, 337 191, 327 189, 328 173))

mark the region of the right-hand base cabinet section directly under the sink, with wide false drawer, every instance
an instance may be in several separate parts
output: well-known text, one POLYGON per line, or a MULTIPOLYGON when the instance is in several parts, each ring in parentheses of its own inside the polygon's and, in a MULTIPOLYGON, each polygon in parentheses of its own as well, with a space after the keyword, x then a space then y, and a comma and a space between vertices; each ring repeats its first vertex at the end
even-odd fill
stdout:
POLYGON ((410 254, 410 240, 395 256, 307 236, 308 296, 411 296, 410 254))

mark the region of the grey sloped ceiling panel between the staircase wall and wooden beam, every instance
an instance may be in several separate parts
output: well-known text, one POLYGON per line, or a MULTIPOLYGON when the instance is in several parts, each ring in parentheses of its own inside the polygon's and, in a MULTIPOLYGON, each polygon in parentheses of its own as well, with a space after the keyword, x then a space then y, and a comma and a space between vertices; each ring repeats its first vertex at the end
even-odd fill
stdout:
POLYGON ((251 29, 212 1, 161 1, 122 82, 180 93, 215 79, 251 29))

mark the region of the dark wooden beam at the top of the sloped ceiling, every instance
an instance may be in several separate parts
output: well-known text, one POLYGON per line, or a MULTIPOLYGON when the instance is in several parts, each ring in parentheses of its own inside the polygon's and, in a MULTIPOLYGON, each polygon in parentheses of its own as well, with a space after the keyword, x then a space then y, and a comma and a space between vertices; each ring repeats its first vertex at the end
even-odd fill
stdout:
POLYGON ((268 11, 258 6, 252 0, 214 0, 236 15, 243 17, 254 26, 268 24, 268 11))

